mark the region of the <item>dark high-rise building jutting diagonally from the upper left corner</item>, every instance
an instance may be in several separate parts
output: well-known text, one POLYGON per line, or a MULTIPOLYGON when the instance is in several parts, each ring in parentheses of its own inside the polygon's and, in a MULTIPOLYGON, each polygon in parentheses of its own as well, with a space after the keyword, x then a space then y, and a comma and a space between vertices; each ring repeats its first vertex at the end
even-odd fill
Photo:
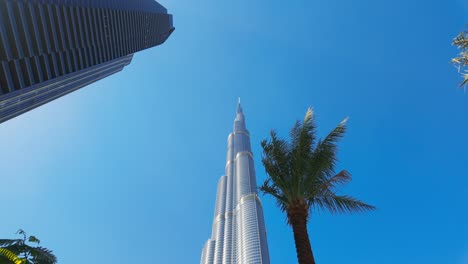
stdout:
POLYGON ((121 71, 173 30, 154 0, 0 0, 0 123, 121 71))

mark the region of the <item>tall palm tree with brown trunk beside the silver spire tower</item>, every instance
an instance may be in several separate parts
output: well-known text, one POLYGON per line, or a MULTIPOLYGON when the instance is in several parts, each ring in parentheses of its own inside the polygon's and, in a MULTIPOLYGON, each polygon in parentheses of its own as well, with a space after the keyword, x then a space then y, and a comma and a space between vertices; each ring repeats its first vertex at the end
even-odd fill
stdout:
POLYGON ((262 162, 268 174, 260 190, 276 199, 292 226, 299 264, 314 264, 307 233, 312 209, 332 213, 362 212, 375 207, 347 195, 336 194, 336 187, 351 180, 342 170, 335 173, 337 143, 346 132, 344 119, 323 140, 316 139, 316 126, 311 108, 304 121, 291 129, 291 142, 271 131, 271 140, 263 140, 262 162))

